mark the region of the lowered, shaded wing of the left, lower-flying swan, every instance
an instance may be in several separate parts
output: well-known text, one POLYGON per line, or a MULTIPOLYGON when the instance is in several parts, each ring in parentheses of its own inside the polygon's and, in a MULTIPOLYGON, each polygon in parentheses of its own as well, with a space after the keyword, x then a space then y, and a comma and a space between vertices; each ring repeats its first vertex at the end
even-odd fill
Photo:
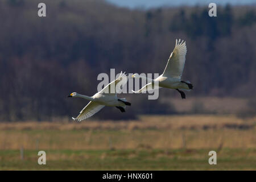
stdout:
POLYGON ((84 109, 80 111, 80 114, 76 118, 72 119, 76 121, 82 121, 84 119, 92 117, 92 115, 98 113, 98 111, 100 111, 103 107, 104 105, 100 105, 97 102, 90 101, 88 105, 86 105, 84 109))

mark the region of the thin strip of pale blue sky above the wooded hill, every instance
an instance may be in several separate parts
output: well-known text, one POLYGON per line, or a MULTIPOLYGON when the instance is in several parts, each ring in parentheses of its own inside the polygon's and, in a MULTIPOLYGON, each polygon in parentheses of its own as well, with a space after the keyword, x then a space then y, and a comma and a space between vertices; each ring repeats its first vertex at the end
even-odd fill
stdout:
POLYGON ((160 7, 160 6, 180 6, 180 5, 209 5, 209 3, 214 2, 218 5, 226 5, 229 3, 230 5, 256 5, 256 0, 106 0, 108 2, 112 2, 115 5, 121 7, 129 7, 131 9, 137 7, 143 8, 152 8, 152 7, 160 7))

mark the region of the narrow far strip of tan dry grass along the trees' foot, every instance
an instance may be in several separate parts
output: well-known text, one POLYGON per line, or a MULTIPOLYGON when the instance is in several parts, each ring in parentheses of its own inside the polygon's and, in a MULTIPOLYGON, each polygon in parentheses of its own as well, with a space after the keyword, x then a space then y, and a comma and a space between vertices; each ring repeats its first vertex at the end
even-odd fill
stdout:
POLYGON ((235 115, 142 115, 131 121, 2 122, 1 130, 134 130, 134 129, 250 129, 255 118, 235 115))

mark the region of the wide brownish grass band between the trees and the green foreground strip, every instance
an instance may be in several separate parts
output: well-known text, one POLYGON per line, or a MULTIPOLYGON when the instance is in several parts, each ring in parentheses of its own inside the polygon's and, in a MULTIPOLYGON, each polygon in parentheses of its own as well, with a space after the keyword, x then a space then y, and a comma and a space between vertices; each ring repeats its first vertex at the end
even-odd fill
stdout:
POLYGON ((233 115, 147 115, 130 122, 1 123, 0 150, 256 148, 255 121, 233 115))

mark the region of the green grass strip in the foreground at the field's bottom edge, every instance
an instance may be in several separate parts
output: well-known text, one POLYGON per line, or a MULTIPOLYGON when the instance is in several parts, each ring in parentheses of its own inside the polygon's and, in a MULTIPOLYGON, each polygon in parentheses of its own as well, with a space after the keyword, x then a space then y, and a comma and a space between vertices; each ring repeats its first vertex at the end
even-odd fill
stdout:
POLYGON ((0 151, 1 170, 255 170, 255 149, 217 152, 209 165, 210 150, 46 150, 47 164, 39 165, 36 150, 0 151))

